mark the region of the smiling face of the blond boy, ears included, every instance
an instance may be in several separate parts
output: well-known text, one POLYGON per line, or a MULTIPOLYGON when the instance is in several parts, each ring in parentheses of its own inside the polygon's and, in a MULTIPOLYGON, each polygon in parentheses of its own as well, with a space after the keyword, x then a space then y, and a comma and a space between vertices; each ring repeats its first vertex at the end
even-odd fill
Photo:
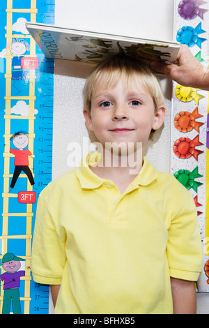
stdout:
POLYGON ((91 100, 91 114, 84 109, 87 128, 98 140, 105 142, 142 143, 146 148, 150 131, 162 126, 166 110, 161 106, 155 112, 153 98, 140 82, 123 88, 118 80, 112 89, 98 88, 91 100))

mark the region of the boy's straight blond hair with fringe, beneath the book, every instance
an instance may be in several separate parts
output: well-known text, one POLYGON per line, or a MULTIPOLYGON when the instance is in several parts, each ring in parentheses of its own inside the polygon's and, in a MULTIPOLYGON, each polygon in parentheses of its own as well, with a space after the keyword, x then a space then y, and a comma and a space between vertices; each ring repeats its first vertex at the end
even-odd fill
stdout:
POLYGON ((97 89, 101 85, 106 89, 114 87, 119 78, 122 78, 124 87, 139 79, 153 98, 155 112, 164 104, 160 82, 150 67, 134 57, 116 55, 101 61, 91 71, 83 90, 84 108, 91 113, 91 100, 97 89))

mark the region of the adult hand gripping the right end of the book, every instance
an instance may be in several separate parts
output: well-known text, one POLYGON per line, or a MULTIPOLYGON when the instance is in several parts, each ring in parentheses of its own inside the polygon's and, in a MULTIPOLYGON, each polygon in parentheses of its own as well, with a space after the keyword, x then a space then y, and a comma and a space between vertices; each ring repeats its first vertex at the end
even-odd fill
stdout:
POLYGON ((174 64, 151 61, 150 67, 184 87, 209 90, 209 70, 193 56, 187 45, 180 45, 178 59, 174 64))

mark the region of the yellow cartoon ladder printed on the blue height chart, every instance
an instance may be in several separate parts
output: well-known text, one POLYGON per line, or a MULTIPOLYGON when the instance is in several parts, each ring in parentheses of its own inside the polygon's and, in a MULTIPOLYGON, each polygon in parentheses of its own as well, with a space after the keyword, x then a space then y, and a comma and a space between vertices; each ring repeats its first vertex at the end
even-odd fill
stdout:
MULTIPOLYGON (((7 0, 7 32, 6 32, 6 114, 5 114, 5 149, 4 149, 4 174, 3 174, 3 224, 2 224, 2 258, 3 254, 8 252, 8 239, 25 239, 26 240, 26 255, 20 255, 21 258, 25 259, 25 277, 22 279, 25 280, 24 285, 24 297, 20 297, 21 301, 24 301, 24 314, 29 314, 29 306, 30 306, 30 281, 31 281, 31 239, 32 239, 32 204, 26 204, 26 213, 9 213, 9 200, 10 197, 17 197, 15 193, 9 193, 9 178, 11 177, 10 172, 10 120, 11 119, 28 119, 29 120, 29 149, 33 154, 33 140, 34 140, 34 103, 36 100, 35 96, 35 70, 30 70, 29 76, 29 96, 11 96, 11 68, 12 68, 12 59, 13 56, 10 54, 10 45, 12 44, 13 39, 13 13, 30 13, 31 14, 31 22, 36 22, 36 13, 38 10, 36 9, 36 0, 31 0, 31 8, 30 9, 13 9, 13 0, 7 0), (29 116, 13 116, 10 114, 11 108, 11 100, 29 100, 29 116), (18 236, 8 236, 8 220, 10 216, 24 216, 26 217, 26 235, 18 235, 18 236)), ((30 38, 30 55, 29 57, 36 57, 36 43, 31 38, 31 36, 27 35, 17 35, 15 34, 15 38, 30 38)), ((29 166, 33 167, 33 159, 29 159, 29 166)), ((20 174, 21 178, 27 178, 26 174, 20 174)), ((27 182, 27 191, 32 191, 32 186, 27 182)), ((3 286, 1 286, 1 306, 0 313, 2 313, 2 305, 3 305, 3 286)))

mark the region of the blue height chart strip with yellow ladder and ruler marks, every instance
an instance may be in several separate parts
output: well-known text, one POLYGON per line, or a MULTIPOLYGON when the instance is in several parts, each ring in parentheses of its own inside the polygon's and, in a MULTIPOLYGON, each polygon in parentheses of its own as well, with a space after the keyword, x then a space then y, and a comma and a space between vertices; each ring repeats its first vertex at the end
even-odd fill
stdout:
MULTIPOLYGON (((20 278, 19 287, 21 313, 44 314, 49 311, 49 287, 33 281, 30 266, 38 195, 52 180, 54 61, 45 59, 36 43, 26 35, 22 22, 54 24, 54 0, 4 0, 0 17, 1 32, 7 26, 4 35, 0 32, 0 82, 5 86, 0 90, 1 99, 4 99, 0 103, 0 151, 3 154, 0 163, 3 218, 0 258, 14 253, 24 263, 25 276, 20 278), (12 53, 14 44, 25 50, 22 50, 21 61, 12 53), (21 172, 11 190, 16 165, 10 148, 15 149, 12 140, 18 131, 29 139, 29 169, 33 177, 30 179, 34 179, 35 184, 21 172)), ((3 272, 1 269, 1 274, 3 272)), ((1 283, 1 313, 3 295, 1 283)), ((12 306, 10 312, 13 313, 12 306)))

